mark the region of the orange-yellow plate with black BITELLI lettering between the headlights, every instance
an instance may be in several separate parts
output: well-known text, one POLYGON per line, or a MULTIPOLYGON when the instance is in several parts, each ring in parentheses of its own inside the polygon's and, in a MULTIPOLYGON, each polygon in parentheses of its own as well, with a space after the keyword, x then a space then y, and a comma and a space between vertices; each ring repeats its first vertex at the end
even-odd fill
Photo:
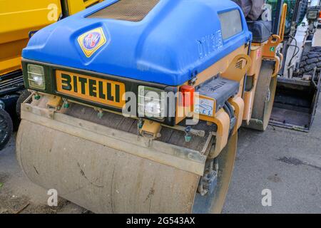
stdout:
POLYGON ((125 84, 78 73, 56 71, 57 91, 75 98, 123 108, 125 84))

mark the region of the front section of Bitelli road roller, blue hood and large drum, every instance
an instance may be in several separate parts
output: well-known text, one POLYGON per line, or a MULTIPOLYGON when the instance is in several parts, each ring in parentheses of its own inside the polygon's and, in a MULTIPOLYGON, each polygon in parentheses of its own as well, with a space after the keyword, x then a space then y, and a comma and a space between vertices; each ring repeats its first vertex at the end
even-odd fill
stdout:
POLYGON ((280 36, 253 34, 218 0, 109 0, 41 29, 22 53, 22 170, 95 213, 221 212, 280 61, 280 36))

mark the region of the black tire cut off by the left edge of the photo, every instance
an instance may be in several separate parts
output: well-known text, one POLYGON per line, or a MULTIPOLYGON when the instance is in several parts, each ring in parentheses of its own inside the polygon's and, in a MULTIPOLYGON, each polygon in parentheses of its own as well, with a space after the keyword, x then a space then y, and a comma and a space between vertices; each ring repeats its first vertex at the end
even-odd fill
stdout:
POLYGON ((13 128, 9 113, 0 108, 0 150, 8 144, 13 128))

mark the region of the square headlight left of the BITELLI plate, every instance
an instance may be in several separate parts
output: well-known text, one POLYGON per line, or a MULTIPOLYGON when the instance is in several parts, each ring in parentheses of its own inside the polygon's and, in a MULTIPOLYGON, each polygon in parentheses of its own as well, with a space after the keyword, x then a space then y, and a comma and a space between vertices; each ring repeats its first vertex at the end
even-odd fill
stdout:
POLYGON ((31 88, 45 90, 44 67, 28 64, 28 81, 31 88))

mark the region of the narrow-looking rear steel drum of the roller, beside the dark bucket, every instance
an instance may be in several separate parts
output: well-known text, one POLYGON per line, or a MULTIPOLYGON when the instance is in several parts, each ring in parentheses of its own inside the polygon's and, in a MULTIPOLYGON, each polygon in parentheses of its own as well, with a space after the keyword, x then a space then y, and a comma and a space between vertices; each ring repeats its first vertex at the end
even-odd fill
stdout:
POLYGON ((252 119, 245 128, 264 131, 272 113, 277 77, 272 77, 275 67, 273 61, 263 61, 255 91, 252 119))

